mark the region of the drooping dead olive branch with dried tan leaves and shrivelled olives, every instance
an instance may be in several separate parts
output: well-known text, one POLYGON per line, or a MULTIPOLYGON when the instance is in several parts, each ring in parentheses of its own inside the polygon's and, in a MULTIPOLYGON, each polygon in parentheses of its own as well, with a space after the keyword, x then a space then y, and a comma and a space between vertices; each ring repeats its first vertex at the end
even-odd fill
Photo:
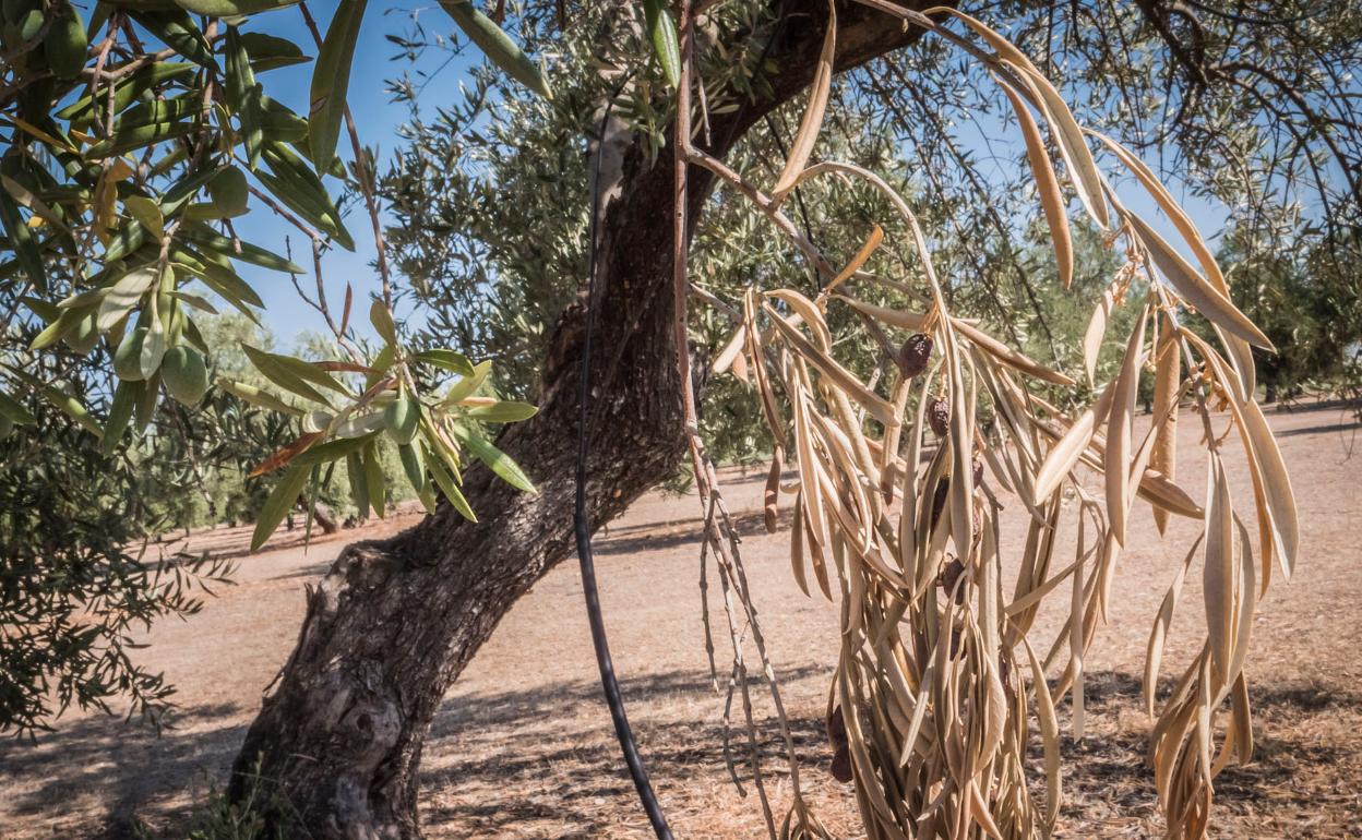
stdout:
MULTIPOLYGON (((1094 376, 1113 310, 1139 314, 1115 376, 1090 383, 1091 389, 955 316, 944 291, 955 282, 953 271, 933 260, 930 238, 910 201, 865 167, 809 165, 829 99, 836 42, 831 7, 823 67, 770 191, 678 144, 682 174, 686 163, 715 173, 750 199, 821 275, 821 290, 812 298, 794 289, 750 287, 740 306, 729 308, 737 329, 714 368, 750 384, 775 441, 765 493, 768 530, 775 528, 780 497, 787 497, 785 504, 794 511, 791 573, 806 594, 840 610, 842 645, 827 716, 836 750, 832 772, 854 780, 869 837, 1047 836, 1062 801, 1056 708, 1069 697, 1072 727, 1081 735, 1084 659, 1106 621, 1121 553, 1139 539, 1129 527, 1132 511, 1148 504, 1160 530, 1170 516, 1201 523, 1201 535, 1188 546, 1154 617, 1144 682, 1147 708, 1158 719, 1150 760, 1167 835, 1204 837, 1215 776, 1253 750, 1244 666, 1254 610, 1273 565, 1287 576, 1294 569, 1299 542, 1290 479, 1254 398, 1250 349, 1272 350, 1271 343, 1230 301, 1224 272, 1154 173, 1117 142, 1084 129, 1026 54, 968 15, 951 10, 918 15, 883 0, 866 1, 956 45, 1004 87, 1026 142, 1060 278, 1066 280, 1073 271, 1060 172, 1091 225, 1103 231, 1105 244, 1124 256, 1084 339, 1086 378, 1094 376), (1106 147, 1143 187, 1177 230, 1178 245, 1122 204, 1090 140, 1106 147), (1062 169, 1054 166, 1051 151, 1062 169), (782 210, 794 189, 816 178, 857 181, 881 193, 906 241, 888 241, 876 226, 838 270, 782 210), (865 268, 878 248, 899 245, 914 255, 902 275, 865 268), (835 308, 857 313, 880 336, 884 364, 872 377, 839 361, 827 320, 835 308), (1208 323, 1215 342, 1192 328, 1197 319, 1208 323), (1135 421, 1144 372, 1155 378, 1148 430, 1135 421), (1175 427, 1184 402, 1204 430, 1209 464, 1204 500, 1177 483, 1175 427), (1226 411, 1229 429, 1219 425, 1226 411), (1231 437, 1242 447, 1252 502, 1230 494, 1226 462, 1238 449, 1231 437), (789 466, 795 479, 786 485, 782 471, 789 466), (1026 511, 1022 545, 1001 540, 1002 498, 1026 511), (1076 538, 1061 538, 1069 531, 1076 538), (1197 566, 1205 639, 1171 694, 1158 697, 1173 613, 1197 566), (1005 587, 1005 580, 1015 584, 1005 587), (1036 615, 1051 602, 1065 606, 1068 618, 1053 639, 1042 639, 1036 615), (1047 681, 1049 673, 1057 679, 1047 681), (1034 732, 1043 753, 1041 798, 1028 784, 1034 732)), ((682 44, 685 27, 682 19, 682 44)), ((682 136, 689 121, 686 78, 682 72, 682 136)), ((678 201, 678 215, 680 207, 678 201)), ((680 287, 684 253, 678 257, 680 287)), ((744 662, 749 632, 786 731, 779 689, 712 464, 695 436, 692 447, 707 516, 704 553, 718 558, 733 637, 725 719, 741 694, 752 777, 772 836, 827 837, 801 794, 789 738, 793 807, 779 829, 771 814, 752 737, 744 662)))

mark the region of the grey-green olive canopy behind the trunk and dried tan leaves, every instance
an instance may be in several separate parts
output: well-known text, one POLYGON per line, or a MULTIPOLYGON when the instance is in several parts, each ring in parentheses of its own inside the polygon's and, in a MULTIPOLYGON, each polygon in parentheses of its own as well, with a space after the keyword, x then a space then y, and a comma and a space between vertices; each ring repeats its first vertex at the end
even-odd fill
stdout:
MULTIPOLYGON (((1362 222, 1350 174, 1362 162, 1362 125, 1355 82, 1342 69, 1359 64, 1359 33, 1347 4, 1303 10, 1278 3, 1242 14, 1156 3, 974 11, 1007 20, 1007 34, 1056 76, 1087 125, 1135 151, 1192 199, 1199 221, 1211 225, 1214 246, 1229 264, 1242 263, 1230 274, 1241 306, 1256 316, 1282 310, 1273 302, 1284 287, 1241 279, 1249 265, 1290 263, 1294 276, 1310 278, 1293 295, 1298 343, 1288 355, 1308 343, 1320 354, 1309 373, 1293 376, 1316 377, 1325 388, 1346 385, 1343 349, 1362 338, 1357 289, 1346 271, 1357 256, 1352 231, 1362 222), (1254 294, 1267 297, 1253 301, 1254 294), (1332 335, 1328 346, 1312 340, 1316 328, 1332 335)), ((729 90, 734 76, 738 90, 768 84, 778 68, 759 67, 761 49, 787 23, 761 4, 722 4, 708 14, 716 31, 750 34, 722 59, 697 53, 706 88, 729 90)), ((387 233, 400 285, 429 313, 424 340, 497 359, 498 384, 519 395, 534 393, 535 359, 577 291, 588 215, 580 200, 588 176, 582 138, 594 131, 598 105, 618 79, 628 79, 614 95, 618 113, 654 154, 665 143, 670 105, 656 99, 667 84, 663 65, 648 60, 639 67, 629 57, 647 57, 651 49, 643 27, 618 44, 602 44, 603 16, 602 10, 576 15, 560 29, 552 8, 524 10, 523 37, 571 56, 554 68, 553 102, 496 72, 477 74, 466 95, 434 109, 422 108, 429 102, 418 97, 428 90, 424 75, 392 84, 411 106, 410 139, 380 182, 398 216, 387 233), (605 74, 587 60, 595 49, 617 69, 605 74)), ((403 42, 413 54, 451 48, 421 26, 405 33, 403 42)), ((1076 226, 1081 253, 1075 291, 1054 282, 1024 150, 1009 135, 1007 99, 987 74, 928 39, 844 75, 834 97, 835 117, 819 154, 874 169, 914 196, 941 253, 970 267, 968 276, 948 280, 952 302, 1038 358, 1076 359, 1091 306, 1115 264, 1091 229, 1076 226)), ((798 103, 760 121, 744 136, 737 161, 783 158, 797 121, 798 103)), ((872 199, 854 191, 805 185, 794 218, 814 242, 855 238, 850 234, 869 222, 872 199)), ((812 287, 799 255, 764 233, 741 201, 716 196, 695 231, 699 282, 729 301, 757 272, 802 272, 812 287)), ((872 358, 878 347, 853 329, 857 324, 834 319, 831 328, 872 358)), ((703 350, 722 340, 727 319, 699 306, 692 327, 703 350)), ((1103 369, 1117 353, 1106 349, 1103 369)), ((1280 364, 1258 358, 1260 365, 1280 364)), ((1264 381, 1272 378, 1268 368, 1261 372, 1264 381)), ((733 396, 727 384, 715 383, 706 391, 701 419, 720 455, 750 456, 768 444, 749 403, 733 396)))

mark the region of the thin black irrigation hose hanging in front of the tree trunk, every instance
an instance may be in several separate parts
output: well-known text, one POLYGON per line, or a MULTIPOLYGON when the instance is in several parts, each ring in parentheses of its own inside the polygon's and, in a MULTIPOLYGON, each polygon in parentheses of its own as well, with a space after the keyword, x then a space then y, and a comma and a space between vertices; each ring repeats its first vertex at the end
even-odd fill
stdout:
POLYGON ((620 682, 614 677, 614 663, 610 660, 610 644, 606 641, 605 636, 605 621, 601 618, 601 595, 597 591, 595 561, 591 555, 591 524, 587 520, 587 441, 590 440, 588 422, 591 417, 588 407, 591 399, 591 334, 592 327, 595 325, 595 319, 592 317, 592 304, 595 302, 597 218, 601 212, 601 189, 598 180, 601 177, 601 155, 603 152, 605 128, 613 110, 614 95, 610 97, 610 103, 606 106, 605 116, 601 118, 601 132, 597 139, 599 146, 597 147, 591 176, 591 219, 587 227, 587 236, 590 237, 590 241, 587 242, 587 301, 583 308, 583 314, 587 320, 587 335, 582 349, 582 381, 577 389, 577 402, 580 406, 577 419, 577 494, 576 506, 572 515, 572 527, 577 536, 577 560, 582 564, 582 592, 587 599, 587 619, 591 624, 591 643, 595 647, 597 666, 601 668, 601 686, 605 689, 605 701, 606 705, 610 707, 610 719, 614 722, 614 734, 620 738, 620 749, 624 752, 624 762, 629 765, 629 776, 633 779, 633 787, 639 791, 639 801, 643 803, 643 810, 648 814, 648 822, 652 824, 652 830, 656 833, 658 840, 671 840, 671 829, 667 826, 667 818, 662 813, 662 806, 658 803, 656 794, 652 792, 652 783, 648 781, 648 771, 643 766, 643 757, 639 756, 639 747, 633 742, 633 730, 629 728, 629 719, 624 713, 624 698, 620 696, 620 682))

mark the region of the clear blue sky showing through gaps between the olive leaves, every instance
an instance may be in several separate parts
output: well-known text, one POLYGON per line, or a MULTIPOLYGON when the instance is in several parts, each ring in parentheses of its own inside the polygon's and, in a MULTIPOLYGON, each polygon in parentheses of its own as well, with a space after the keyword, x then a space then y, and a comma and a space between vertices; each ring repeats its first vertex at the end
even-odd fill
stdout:
MULTIPOLYGON (((368 7, 365 26, 361 29, 350 74, 350 108, 360 127, 361 142, 377 148, 380 172, 383 172, 387 161, 400 147, 402 139, 398 136, 398 129, 409 118, 407 106, 391 101, 391 94, 385 91, 387 80, 398 78, 405 71, 434 69, 448 57, 444 52, 432 53, 415 65, 406 60, 392 60, 399 48, 388 42, 385 35, 403 31, 410 10, 413 8, 421 10, 421 20, 425 23, 429 35, 448 35, 455 30, 452 20, 444 15, 437 4, 432 3, 428 5, 421 0, 372 0, 368 7)), ((330 16, 323 16, 327 12, 320 7, 315 14, 319 15, 317 25, 324 33, 330 16)), ((304 26, 302 16, 297 10, 290 8, 268 15, 259 15, 255 18, 253 25, 248 25, 245 29, 268 31, 270 34, 289 38, 302 46, 308 54, 315 54, 316 52, 312 48, 312 38, 304 26)), ((470 60, 477 60, 475 53, 470 52, 469 59, 459 57, 449 67, 445 67, 440 82, 430 84, 422 94, 424 103, 439 106, 445 103, 444 97, 456 95, 454 93, 458 91, 456 82, 466 71, 470 60)), ((312 63, 308 63, 268 71, 262 75, 262 80, 271 97, 285 102, 297 113, 306 114, 311 76, 312 63)), ((1077 116, 1081 121, 1083 114, 1077 116)), ((964 142, 970 143, 968 132, 966 132, 964 142)), ((978 139, 974 142, 978 143, 978 139)), ((1004 129, 1004 138, 994 139, 994 151, 1009 155, 1016 161, 1020 147, 1012 132, 1004 129)), ((343 132, 339 152, 347 161, 351 158, 349 139, 343 132)), ((1110 163, 1110 158, 1107 158, 1107 162, 1110 163)), ((1156 165, 1158 161, 1150 161, 1150 163, 1156 165)), ((1007 165, 1020 163, 1000 162, 1000 166, 1007 165)), ((1107 166, 1107 172, 1111 176, 1122 174, 1110 169, 1110 166, 1107 166)), ((331 187, 332 193, 338 189, 334 178, 328 181, 328 187, 331 187)), ((1169 187, 1174 196, 1184 201, 1193 221, 1201 227, 1203 234, 1208 240, 1214 240, 1227 218, 1226 208, 1190 195, 1177 182, 1170 182, 1169 187)), ((1144 191, 1137 184, 1125 180, 1118 184, 1118 193, 1130 210, 1150 219, 1160 233, 1170 237, 1170 241, 1179 241, 1171 225, 1167 223, 1158 207, 1144 195, 1144 191)), ((1076 204, 1071 207, 1071 214, 1075 211, 1079 211, 1076 204)), ((373 236, 368 216, 362 208, 357 207, 351 210, 346 225, 355 240, 355 251, 353 253, 340 249, 331 251, 323 260, 323 276, 327 283, 328 298, 336 309, 339 309, 340 301, 343 301, 346 283, 353 286, 355 314, 351 323, 361 332, 366 334, 369 332, 368 324, 360 313, 368 310, 368 295, 379 290, 377 271, 372 267, 375 259, 373 236)), ((247 241, 281 252, 283 251, 283 237, 291 234, 290 242, 294 261, 309 270, 309 275, 300 278, 300 283, 302 283, 309 294, 312 293, 315 280, 311 276, 311 251, 308 241, 301 234, 291 231, 285 222, 281 222, 263 208, 238 219, 237 231, 247 241)), ((263 321, 274 332, 281 347, 287 349, 293 346, 298 336, 305 332, 327 332, 321 316, 298 300, 297 291, 289 282, 287 275, 257 270, 247 264, 238 264, 238 270, 244 279, 264 300, 266 310, 263 321)), ((399 317, 403 314, 409 313, 403 313, 399 309, 399 317)))

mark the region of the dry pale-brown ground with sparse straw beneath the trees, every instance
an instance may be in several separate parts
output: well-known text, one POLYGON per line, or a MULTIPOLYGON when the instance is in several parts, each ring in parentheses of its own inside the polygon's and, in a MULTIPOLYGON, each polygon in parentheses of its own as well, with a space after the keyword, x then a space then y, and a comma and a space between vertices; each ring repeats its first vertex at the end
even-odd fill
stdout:
MULTIPOLYGON (((1301 500, 1301 569, 1294 583, 1278 581, 1257 618, 1249 663, 1257 753, 1216 783, 1219 837, 1362 837, 1362 452, 1347 457, 1357 429, 1340 427, 1343 419, 1336 408, 1272 415, 1301 500)), ((1182 423, 1184 452, 1196 426, 1182 423)), ((1204 466, 1188 459, 1179 468, 1181 483, 1200 493, 1204 466)), ((1246 502, 1244 471, 1235 476, 1235 498, 1246 502)), ((813 764, 804 786, 825 822, 851 837, 851 798, 825 772, 819 723, 835 615, 791 583, 785 534, 761 532, 760 485, 760 475, 730 472, 726 494, 742 515, 745 558, 795 738, 813 764)), ((602 534, 602 600, 629 715, 677 836, 755 839, 763 833, 756 798, 734 791, 719 746, 720 701, 699 618, 696 513, 693 498, 651 494, 602 534)), ((242 558, 238 585, 200 615, 157 626, 146 655, 180 686, 181 705, 161 738, 72 713, 37 745, 0 745, 0 839, 132 836, 133 815, 162 836, 183 836, 185 814, 221 784, 262 689, 293 645, 302 585, 343 540, 394 527, 343 532, 306 553, 286 535, 268 553, 242 558)), ((1065 837, 1158 836, 1139 674, 1150 622, 1192 528, 1177 523, 1160 539, 1147 511, 1136 520, 1111 625, 1090 660, 1090 731, 1065 743, 1065 837)), ((196 542, 232 550, 242 531, 196 542)), ((1170 662, 1193 649, 1199 604, 1192 581, 1170 662)), ((428 836, 646 837, 595 679, 576 565, 565 562, 512 610, 449 692, 425 749, 428 836)), ((757 713, 765 716, 768 704, 757 713)), ((778 776, 774 790, 785 799, 787 779, 778 776)))

